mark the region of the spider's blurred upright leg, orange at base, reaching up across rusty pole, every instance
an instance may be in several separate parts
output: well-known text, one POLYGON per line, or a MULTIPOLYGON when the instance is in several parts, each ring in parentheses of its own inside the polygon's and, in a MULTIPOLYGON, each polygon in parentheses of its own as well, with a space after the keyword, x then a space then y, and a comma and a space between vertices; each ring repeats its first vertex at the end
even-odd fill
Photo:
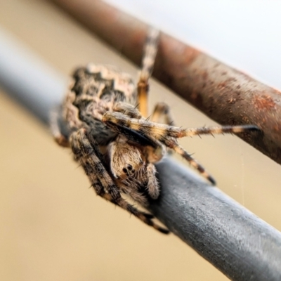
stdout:
POLYGON ((155 63, 158 40, 159 31, 151 29, 148 34, 147 41, 145 43, 141 74, 138 79, 138 104, 139 109, 141 111, 141 115, 143 115, 143 117, 148 116, 148 79, 152 74, 153 65, 155 63))

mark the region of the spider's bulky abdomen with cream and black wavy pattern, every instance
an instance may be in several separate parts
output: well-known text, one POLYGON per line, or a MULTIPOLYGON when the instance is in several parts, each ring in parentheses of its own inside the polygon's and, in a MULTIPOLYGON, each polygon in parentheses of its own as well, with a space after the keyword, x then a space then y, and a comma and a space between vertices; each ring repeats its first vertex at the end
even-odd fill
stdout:
POLYGON ((104 113, 120 102, 135 106, 136 100, 136 86, 129 74, 111 65, 89 64, 74 71, 63 115, 71 130, 91 128, 93 138, 106 145, 116 133, 100 122, 104 113))

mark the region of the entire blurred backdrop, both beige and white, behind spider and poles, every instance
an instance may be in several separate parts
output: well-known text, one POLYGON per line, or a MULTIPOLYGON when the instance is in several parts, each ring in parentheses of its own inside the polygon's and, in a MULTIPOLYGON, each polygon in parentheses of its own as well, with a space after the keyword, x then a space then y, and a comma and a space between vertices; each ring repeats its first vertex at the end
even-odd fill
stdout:
MULTIPOLYGON (((277 1, 108 2, 281 89, 277 1)), ((74 67, 88 62, 137 77, 136 66, 48 1, 0 0, 0 41, 18 46, 65 87, 74 67)), ((4 89, 0 98, 0 280, 228 280, 178 237, 96 197, 70 150, 55 145, 4 89)), ((149 98, 150 110, 169 103, 179 126, 215 124, 153 79, 149 98)), ((218 188, 281 230, 280 165, 235 136, 181 145, 218 188)))

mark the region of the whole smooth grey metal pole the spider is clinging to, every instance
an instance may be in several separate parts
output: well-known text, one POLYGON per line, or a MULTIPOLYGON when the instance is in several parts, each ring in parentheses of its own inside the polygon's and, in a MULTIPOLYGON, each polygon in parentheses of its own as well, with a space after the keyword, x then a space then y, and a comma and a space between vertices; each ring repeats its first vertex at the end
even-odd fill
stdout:
MULTIPOLYGON (((65 79, 4 34, 0 62, 1 86, 48 124, 65 79)), ((171 159, 157 170, 162 195, 150 210, 173 233, 231 280, 281 280, 280 232, 171 159)))

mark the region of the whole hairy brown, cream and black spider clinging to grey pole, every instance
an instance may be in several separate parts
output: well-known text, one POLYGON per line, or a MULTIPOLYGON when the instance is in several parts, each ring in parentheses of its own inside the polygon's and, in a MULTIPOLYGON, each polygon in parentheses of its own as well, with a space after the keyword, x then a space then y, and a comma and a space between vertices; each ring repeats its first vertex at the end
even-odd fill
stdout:
POLYGON ((153 221, 122 195, 144 207, 157 200, 160 186, 155 163, 174 150, 215 184, 214 178, 188 154, 177 138, 214 133, 241 133, 259 130, 257 126, 215 126, 182 129, 171 126, 169 106, 157 103, 148 116, 148 79, 157 54, 159 32, 151 29, 145 43, 137 87, 129 74, 108 65, 89 64, 74 71, 61 109, 51 115, 55 141, 72 149, 97 195, 129 211, 162 233, 169 230, 153 221), (60 131, 60 116, 67 133, 60 131), (159 121, 164 120, 164 124, 159 121))

